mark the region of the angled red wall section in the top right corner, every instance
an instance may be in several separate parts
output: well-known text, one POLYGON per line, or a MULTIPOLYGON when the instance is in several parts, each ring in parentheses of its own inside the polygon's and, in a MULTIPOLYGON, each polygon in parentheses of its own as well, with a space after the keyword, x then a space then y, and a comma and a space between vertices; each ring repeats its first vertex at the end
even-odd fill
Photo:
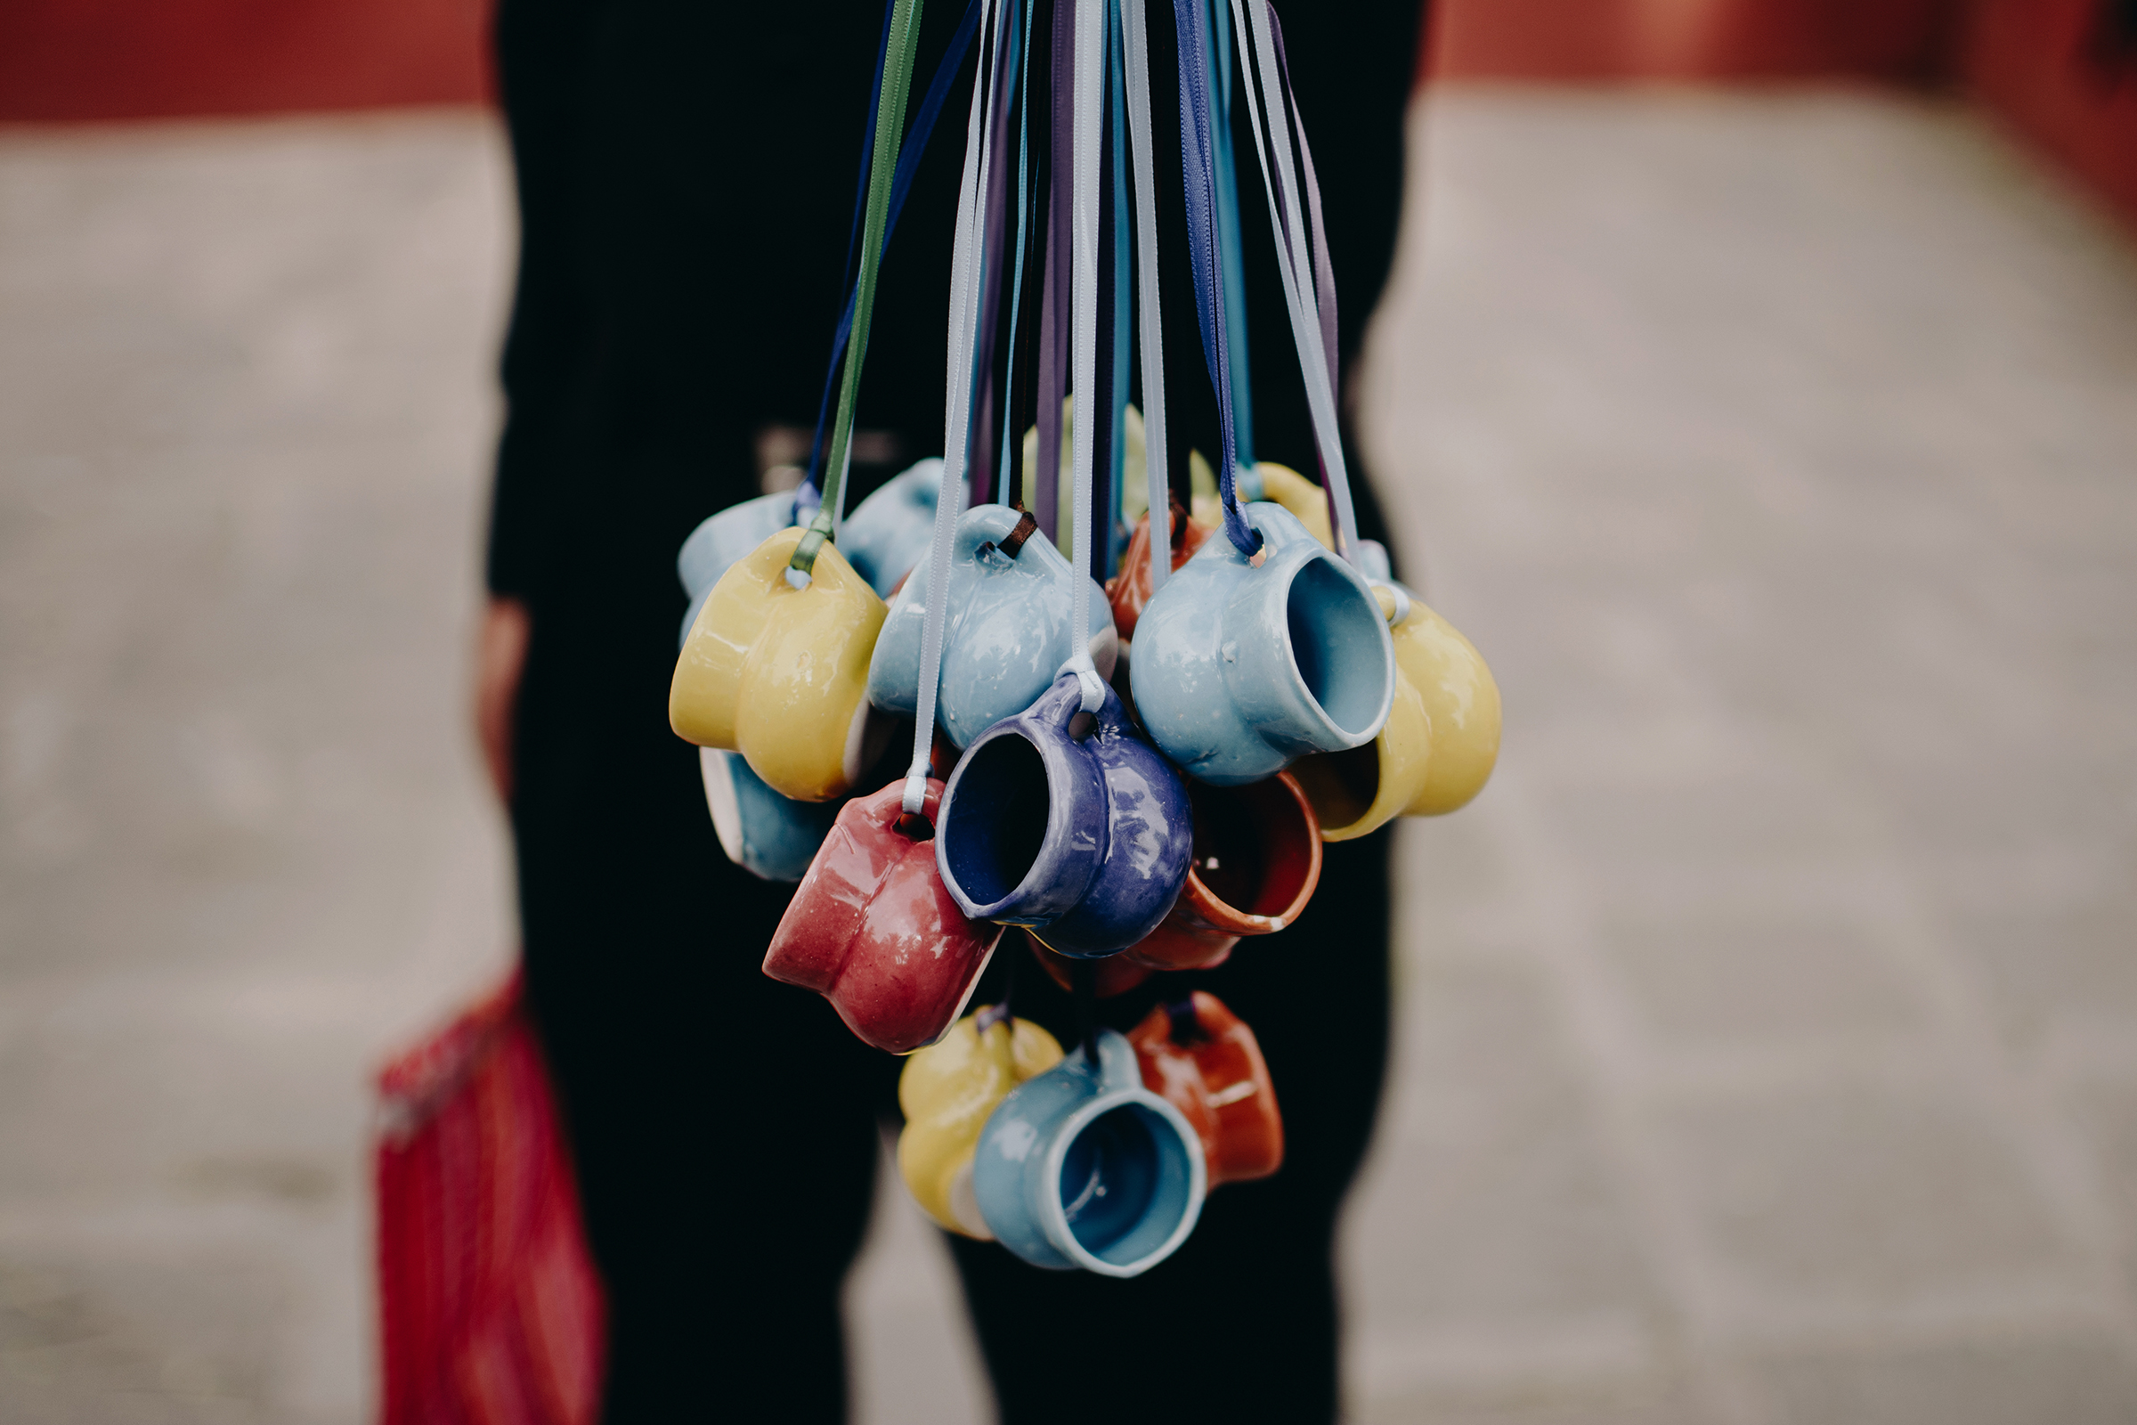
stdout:
POLYGON ((1968 92, 2137 222, 2137 56, 2092 45, 2096 0, 1975 0, 1957 71, 1968 92))

